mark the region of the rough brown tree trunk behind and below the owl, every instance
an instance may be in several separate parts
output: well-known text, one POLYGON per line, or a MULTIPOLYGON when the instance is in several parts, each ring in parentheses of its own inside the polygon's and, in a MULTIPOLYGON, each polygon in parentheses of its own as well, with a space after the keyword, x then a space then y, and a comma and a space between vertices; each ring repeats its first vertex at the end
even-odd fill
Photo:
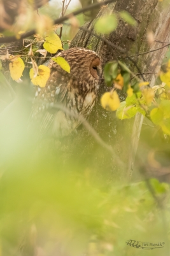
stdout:
MULTIPOLYGON (((118 0, 116 3, 109 4, 101 8, 99 15, 101 17, 108 13, 117 13, 118 11, 128 11, 131 13, 138 23, 137 27, 132 27, 126 24, 122 18, 119 18, 117 31, 112 32, 106 39, 121 46, 127 50, 127 55, 146 52, 162 46, 162 43, 153 43, 152 47, 146 41, 146 32, 153 31, 155 39, 161 41, 169 41, 170 33, 170 17, 169 6, 162 9, 160 2, 157 0, 118 0)), ((90 31, 94 31, 94 22, 92 20, 87 22, 84 27, 90 31)), ((118 52, 114 49, 111 51, 110 47, 102 40, 90 35, 89 32, 79 31, 71 43, 71 47, 85 47, 90 50, 95 50, 101 57, 102 64, 106 62, 120 59, 122 60, 126 54, 118 52)), ((134 57, 138 63, 139 68, 143 73, 155 73, 159 70, 160 64, 167 48, 162 48, 156 52, 148 53, 147 55, 139 55, 134 57)), ((137 72, 136 67, 132 62, 124 59, 131 71, 137 72)), ((146 81, 151 81, 152 85, 155 82, 155 75, 145 75, 146 81)), ((94 138, 89 135, 89 132, 82 127, 76 136, 67 138, 65 146, 68 150, 68 155, 76 153, 78 159, 84 159, 85 167, 96 170, 98 174, 106 173, 111 181, 115 176, 121 180, 127 174, 131 174, 133 169, 134 155, 136 153, 138 139, 141 129, 141 118, 135 120, 117 120, 115 113, 108 112, 101 107, 101 95, 110 90, 103 82, 101 82, 99 89, 99 97, 96 107, 92 111, 89 122, 96 129, 97 133, 109 145, 113 146, 115 155, 106 152, 101 146, 97 145, 94 138), (133 128, 134 124, 134 128, 133 128), (132 134, 135 138, 132 140, 132 134), (72 142, 72 143, 70 143, 72 142), (70 153, 71 152, 71 153, 70 153), (120 157, 124 164, 117 164, 117 157, 120 157)), ((124 92, 119 92, 120 99, 125 99, 124 92)))

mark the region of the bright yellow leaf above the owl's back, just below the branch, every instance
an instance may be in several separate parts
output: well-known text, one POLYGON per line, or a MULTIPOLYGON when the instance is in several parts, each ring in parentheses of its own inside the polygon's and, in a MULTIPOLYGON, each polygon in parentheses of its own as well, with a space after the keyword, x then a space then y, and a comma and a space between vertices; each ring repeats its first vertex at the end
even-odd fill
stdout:
POLYGON ((63 50, 62 43, 60 41, 59 36, 57 34, 50 34, 49 36, 46 36, 45 43, 43 44, 44 48, 47 50, 47 52, 55 53, 57 50, 63 50))

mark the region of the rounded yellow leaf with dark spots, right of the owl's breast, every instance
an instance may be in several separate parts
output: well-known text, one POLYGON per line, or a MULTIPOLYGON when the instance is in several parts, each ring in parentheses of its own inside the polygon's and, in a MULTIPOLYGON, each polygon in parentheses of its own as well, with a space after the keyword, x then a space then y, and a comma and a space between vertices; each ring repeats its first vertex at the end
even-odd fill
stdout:
POLYGON ((120 105, 120 99, 117 92, 115 90, 113 92, 105 92, 105 94, 103 94, 103 96, 101 97, 101 105, 106 110, 117 110, 120 105))

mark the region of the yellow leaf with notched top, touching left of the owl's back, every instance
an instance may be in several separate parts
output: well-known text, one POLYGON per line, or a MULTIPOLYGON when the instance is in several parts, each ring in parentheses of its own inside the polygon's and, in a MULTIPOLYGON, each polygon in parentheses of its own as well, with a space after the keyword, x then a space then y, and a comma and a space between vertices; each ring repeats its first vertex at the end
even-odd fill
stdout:
POLYGON ((50 68, 40 65, 38 67, 38 75, 34 78, 34 70, 31 68, 29 71, 29 76, 31 82, 34 85, 39 85, 40 87, 45 87, 48 78, 50 77, 50 68))

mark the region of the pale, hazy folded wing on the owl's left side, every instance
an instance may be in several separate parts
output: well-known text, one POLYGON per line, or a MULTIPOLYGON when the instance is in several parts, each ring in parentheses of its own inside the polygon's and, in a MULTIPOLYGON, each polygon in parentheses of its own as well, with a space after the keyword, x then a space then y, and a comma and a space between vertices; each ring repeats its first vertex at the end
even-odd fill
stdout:
POLYGON ((50 126, 57 113, 55 103, 62 103, 67 93, 67 83, 62 82, 60 69, 52 68, 50 78, 45 88, 38 88, 36 99, 32 106, 31 126, 37 130, 38 139, 41 139, 50 126), (53 107, 49 106, 54 104, 53 107))

